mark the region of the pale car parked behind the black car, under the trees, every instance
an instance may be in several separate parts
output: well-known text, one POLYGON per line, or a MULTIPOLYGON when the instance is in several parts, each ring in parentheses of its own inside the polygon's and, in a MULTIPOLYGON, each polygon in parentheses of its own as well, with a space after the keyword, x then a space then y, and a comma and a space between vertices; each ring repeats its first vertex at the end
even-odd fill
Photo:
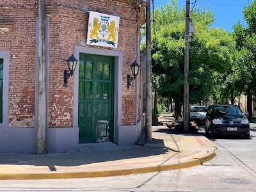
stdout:
POLYGON ((205 122, 207 106, 189 106, 189 116, 191 121, 205 122))

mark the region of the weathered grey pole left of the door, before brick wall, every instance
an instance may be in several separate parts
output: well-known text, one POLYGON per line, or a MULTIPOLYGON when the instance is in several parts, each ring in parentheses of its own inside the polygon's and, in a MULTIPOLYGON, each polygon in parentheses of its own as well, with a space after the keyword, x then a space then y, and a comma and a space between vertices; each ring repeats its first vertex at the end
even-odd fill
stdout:
POLYGON ((46 149, 45 0, 38 0, 38 124, 36 154, 46 149))

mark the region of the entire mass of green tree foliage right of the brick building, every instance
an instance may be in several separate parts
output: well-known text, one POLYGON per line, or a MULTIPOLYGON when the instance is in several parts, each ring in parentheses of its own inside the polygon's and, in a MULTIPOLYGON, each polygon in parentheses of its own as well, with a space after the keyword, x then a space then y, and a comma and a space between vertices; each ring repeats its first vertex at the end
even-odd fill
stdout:
MULTIPOLYGON (((227 102, 256 92, 256 0, 244 7, 243 14, 248 27, 238 21, 228 33, 210 28, 214 14, 209 7, 195 8, 191 13, 195 33, 189 39, 190 103, 208 95, 227 102)), ((185 10, 179 10, 177 1, 171 0, 156 8, 152 18, 152 84, 160 97, 182 104, 185 10)), ((145 50, 145 42, 141 49, 145 50)))

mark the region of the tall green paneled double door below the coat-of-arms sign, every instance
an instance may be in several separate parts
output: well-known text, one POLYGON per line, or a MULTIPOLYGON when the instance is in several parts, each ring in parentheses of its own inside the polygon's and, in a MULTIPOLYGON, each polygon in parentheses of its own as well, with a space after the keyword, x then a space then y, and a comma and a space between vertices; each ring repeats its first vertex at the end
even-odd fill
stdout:
POLYGON ((113 139, 114 58, 79 56, 79 143, 113 139))

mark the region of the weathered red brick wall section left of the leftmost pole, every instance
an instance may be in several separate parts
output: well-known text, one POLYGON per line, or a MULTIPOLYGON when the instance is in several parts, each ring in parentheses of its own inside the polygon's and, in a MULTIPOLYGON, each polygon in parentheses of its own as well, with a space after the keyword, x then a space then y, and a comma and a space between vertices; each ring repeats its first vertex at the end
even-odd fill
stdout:
MULTIPOLYGON (((4 1, 6 2, 6 1, 4 1)), ((1 1, 1 4, 4 3, 1 1)), ((13 1, 12 1, 13 3, 13 1)), ((9 3, 8 4, 12 4, 9 3)), ((33 127, 35 120, 35 39, 36 8, 6 6, 0 8, 0 28, 3 22, 13 24, 10 31, 0 33, 0 51, 10 51, 9 125, 33 127), (9 44, 4 47, 4 42, 9 44), (8 50, 4 50, 8 49, 8 50)))

